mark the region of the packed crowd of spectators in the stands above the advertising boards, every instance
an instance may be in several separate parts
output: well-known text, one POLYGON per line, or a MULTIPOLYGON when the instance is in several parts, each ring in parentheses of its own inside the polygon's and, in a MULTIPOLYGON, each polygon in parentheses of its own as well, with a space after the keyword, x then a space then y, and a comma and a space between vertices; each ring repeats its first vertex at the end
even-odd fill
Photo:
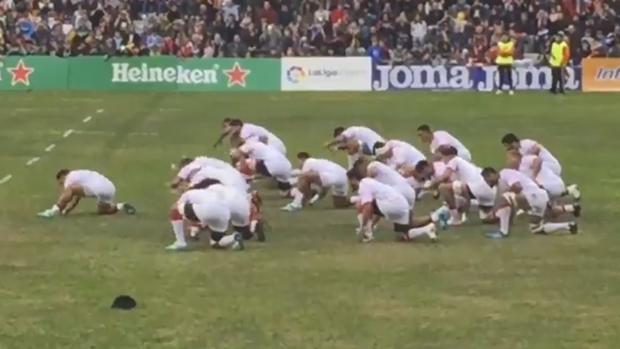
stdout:
POLYGON ((0 0, 0 55, 371 56, 392 64, 516 58, 566 37, 573 64, 620 57, 620 0, 0 0))

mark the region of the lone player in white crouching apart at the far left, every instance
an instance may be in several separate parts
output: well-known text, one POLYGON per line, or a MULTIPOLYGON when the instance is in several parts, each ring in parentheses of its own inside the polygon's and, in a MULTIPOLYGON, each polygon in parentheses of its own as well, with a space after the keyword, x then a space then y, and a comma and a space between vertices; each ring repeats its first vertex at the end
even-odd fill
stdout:
POLYGON ((111 215, 121 210, 130 215, 136 213, 136 209, 128 203, 114 203, 114 183, 98 172, 62 169, 56 174, 56 180, 63 191, 56 204, 40 212, 39 217, 67 215, 84 197, 97 199, 97 213, 101 215, 111 215))

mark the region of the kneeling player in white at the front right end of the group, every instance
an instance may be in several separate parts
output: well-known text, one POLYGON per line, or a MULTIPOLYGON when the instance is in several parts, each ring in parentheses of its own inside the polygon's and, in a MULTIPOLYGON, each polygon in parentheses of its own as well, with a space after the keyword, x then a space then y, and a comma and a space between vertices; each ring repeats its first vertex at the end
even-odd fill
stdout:
POLYGON ((578 216, 580 210, 576 210, 575 207, 567 210, 565 207, 551 205, 547 192, 525 174, 513 169, 503 169, 498 173, 495 169, 487 167, 482 170, 482 176, 489 186, 506 188, 494 210, 494 216, 499 221, 499 229, 488 233, 487 237, 492 239, 508 237, 511 222, 519 209, 528 212, 530 232, 533 234, 551 234, 558 231, 577 234, 576 222, 549 223, 545 222, 545 218, 552 218, 567 211, 578 216))

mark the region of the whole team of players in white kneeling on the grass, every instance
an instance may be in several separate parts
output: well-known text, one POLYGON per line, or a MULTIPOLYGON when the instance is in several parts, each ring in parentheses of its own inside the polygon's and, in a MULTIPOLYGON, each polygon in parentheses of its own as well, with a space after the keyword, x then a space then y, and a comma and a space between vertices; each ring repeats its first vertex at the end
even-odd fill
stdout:
MULTIPOLYGON (((346 153, 346 168, 306 151, 297 153, 294 168, 284 142, 266 128, 239 119, 224 119, 222 128, 214 146, 229 140, 230 163, 199 156, 178 164, 170 183, 179 197, 169 212, 175 241, 167 250, 187 249, 186 236, 198 239, 204 231, 214 248, 243 250, 244 241, 264 242, 262 199, 253 188, 260 178, 274 181, 280 195, 292 199, 285 211, 312 206, 331 191, 334 208, 355 207, 361 242, 374 239, 382 218, 393 224, 398 240, 436 242, 438 230, 463 224, 473 210, 481 224, 495 227, 486 234, 493 239, 507 237, 515 217, 523 214, 534 234, 578 232, 572 218, 581 213, 578 186, 565 185, 560 162, 542 144, 512 133, 501 139, 503 169, 477 166, 456 137, 428 125, 417 129, 429 147, 426 154, 368 127, 337 127, 325 146, 346 153), (416 202, 429 196, 441 199, 439 207, 421 215, 416 202)), ((131 204, 115 203, 114 184, 98 172, 62 169, 56 179, 62 193, 41 217, 67 215, 84 197, 96 198, 99 214, 136 212, 131 204)))

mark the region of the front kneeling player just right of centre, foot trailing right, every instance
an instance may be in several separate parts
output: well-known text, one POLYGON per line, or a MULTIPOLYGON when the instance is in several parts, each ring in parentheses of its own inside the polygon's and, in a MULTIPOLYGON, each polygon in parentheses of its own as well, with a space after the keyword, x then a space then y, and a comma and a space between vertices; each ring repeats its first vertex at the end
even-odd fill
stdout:
POLYGON ((440 208, 430 217, 413 218, 409 203, 396 189, 372 178, 364 178, 359 183, 358 238, 362 242, 373 240, 373 227, 385 217, 394 224, 394 231, 405 240, 428 236, 437 241, 435 222, 444 222, 447 211, 440 208))

